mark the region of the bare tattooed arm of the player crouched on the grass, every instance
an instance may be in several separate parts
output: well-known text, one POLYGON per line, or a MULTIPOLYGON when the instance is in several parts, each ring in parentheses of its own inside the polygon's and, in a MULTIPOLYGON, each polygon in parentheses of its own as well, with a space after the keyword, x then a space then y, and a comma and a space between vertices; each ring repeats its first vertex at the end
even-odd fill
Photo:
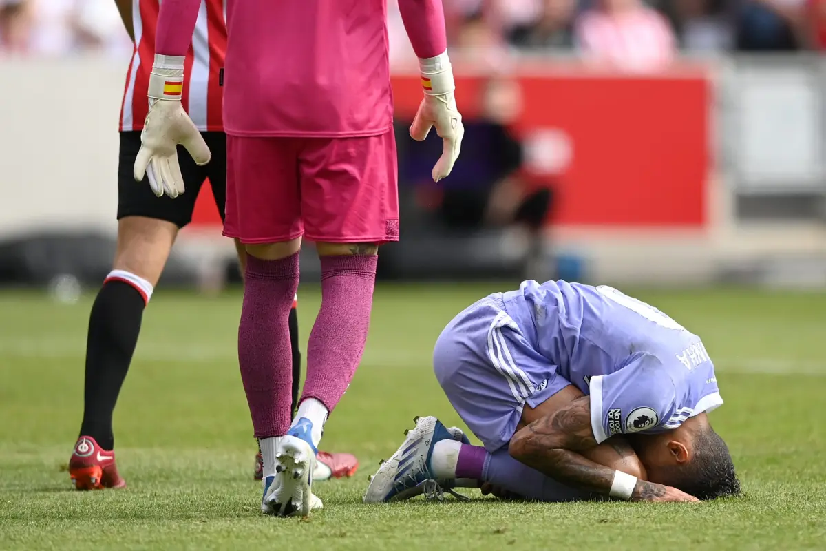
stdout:
MULTIPOLYGON (((510 454, 563 484, 608 494, 614 469, 582 456, 596 445, 591 429, 591 398, 582 397, 517 432, 510 440, 510 454)), ((621 455, 634 453, 627 443, 617 445, 621 455)), ((632 499, 661 501, 666 492, 667 487, 638 480, 632 499)))

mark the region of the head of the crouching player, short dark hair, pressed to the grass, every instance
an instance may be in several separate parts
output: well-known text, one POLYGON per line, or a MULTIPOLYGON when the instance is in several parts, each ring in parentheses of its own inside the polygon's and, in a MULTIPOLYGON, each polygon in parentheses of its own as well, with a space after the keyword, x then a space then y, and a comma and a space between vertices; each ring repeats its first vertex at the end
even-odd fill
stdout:
POLYGON ((739 496, 740 481, 722 438, 710 426, 694 435, 691 461, 666 473, 669 486, 700 500, 739 496))

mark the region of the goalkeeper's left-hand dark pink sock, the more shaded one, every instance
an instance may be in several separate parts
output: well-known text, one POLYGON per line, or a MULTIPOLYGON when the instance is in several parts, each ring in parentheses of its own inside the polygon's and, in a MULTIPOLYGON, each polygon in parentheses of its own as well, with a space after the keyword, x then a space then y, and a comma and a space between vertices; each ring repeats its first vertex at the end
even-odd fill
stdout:
POLYGON ((238 363, 256 438, 287 434, 292 404, 289 316, 298 288, 298 253, 247 258, 238 327, 238 363))

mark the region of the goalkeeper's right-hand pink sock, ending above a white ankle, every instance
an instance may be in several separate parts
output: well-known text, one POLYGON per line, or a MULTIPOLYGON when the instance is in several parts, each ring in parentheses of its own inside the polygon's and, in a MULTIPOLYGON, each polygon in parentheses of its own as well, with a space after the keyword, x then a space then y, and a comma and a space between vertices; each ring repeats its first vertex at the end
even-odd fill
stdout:
POLYGON ((376 255, 322 256, 321 308, 307 342, 301 401, 316 398, 333 411, 364 352, 373 306, 376 255))

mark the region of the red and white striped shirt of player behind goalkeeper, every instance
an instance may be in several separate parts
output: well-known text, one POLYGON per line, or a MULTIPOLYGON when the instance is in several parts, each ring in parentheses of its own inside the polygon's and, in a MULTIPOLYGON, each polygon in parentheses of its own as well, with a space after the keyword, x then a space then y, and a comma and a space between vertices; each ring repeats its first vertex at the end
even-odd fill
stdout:
MULTIPOLYGON (((143 130, 154 62, 159 0, 132 0, 135 51, 126 74, 121 107, 121 131, 143 130)), ((183 108, 200 131, 224 131, 223 91, 219 73, 226 51, 225 0, 201 0, 201 8, 184 62, 183 108)))

